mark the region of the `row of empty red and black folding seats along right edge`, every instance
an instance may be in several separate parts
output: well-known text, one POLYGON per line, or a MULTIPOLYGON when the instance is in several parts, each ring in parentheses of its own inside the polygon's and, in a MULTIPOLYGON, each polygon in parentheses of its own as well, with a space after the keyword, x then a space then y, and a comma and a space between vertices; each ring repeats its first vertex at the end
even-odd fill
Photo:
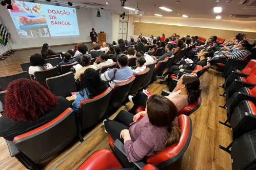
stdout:
POLYGON ((256 60, 251 60, 242 71, 233 71, 220 87, 225 89, 220 96, 226 97, 226 103, 220 107, 227 110, 227 120, 219 123, 231 128, 233 141, 227 147, 219 147, 231 153, 233 170, 253 169, 256 161, 256 60))

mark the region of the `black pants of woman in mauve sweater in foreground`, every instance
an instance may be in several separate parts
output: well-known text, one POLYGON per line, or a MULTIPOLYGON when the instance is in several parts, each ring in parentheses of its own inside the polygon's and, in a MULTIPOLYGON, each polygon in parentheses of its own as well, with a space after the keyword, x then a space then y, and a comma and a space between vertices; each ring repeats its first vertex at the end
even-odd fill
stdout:
POLYGON ((119 139, 123 142, 123 139, 120 138, 120 133, 123 129, 129 129, 129 124, 133 122, 133 117, 133 114, 121 110, 114 120, 105 121, 105 129, 114 140, 119 139))

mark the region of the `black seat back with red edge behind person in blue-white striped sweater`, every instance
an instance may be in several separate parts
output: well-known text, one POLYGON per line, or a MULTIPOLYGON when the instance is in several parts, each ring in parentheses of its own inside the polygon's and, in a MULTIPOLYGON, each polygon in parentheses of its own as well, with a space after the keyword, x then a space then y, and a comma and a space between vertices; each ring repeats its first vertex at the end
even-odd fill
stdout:
POLYGON ((114 86, 113 95, 110 102, 110 109, 118 108, 124 103, 134 81, 135 81, 135 77, 132 76, 130 79, 122 83, 117 83, 114 86))

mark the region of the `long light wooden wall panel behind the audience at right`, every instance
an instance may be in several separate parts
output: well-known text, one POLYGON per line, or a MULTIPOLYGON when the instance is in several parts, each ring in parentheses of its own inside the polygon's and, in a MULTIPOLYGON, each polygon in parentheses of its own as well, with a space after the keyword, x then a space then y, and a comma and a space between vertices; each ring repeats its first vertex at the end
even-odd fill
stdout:
POLYGON ((232 40, 236 34, 243 33, 245 34, 244 38, 248 39, 248 41, 250 42, 253 42, 256 38, 256 33, 253 32, 135 22, 134 35, 139 35, 140 33, 144 36, 150 36, 151 34, 153 34, 154 36, 160 36, 162 33, 164 33, 165 37, 169 37, 173 33, 180 35, 180 37, 184 35, 198 35, 209 38, 212 35, 217 35, 218 37, 225 38, 226 40, 232 40))

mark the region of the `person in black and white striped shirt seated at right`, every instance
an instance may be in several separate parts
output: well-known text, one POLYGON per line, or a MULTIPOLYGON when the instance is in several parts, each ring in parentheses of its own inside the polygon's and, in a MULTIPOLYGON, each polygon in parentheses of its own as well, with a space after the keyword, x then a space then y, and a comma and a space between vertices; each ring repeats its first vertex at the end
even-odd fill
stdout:
POLYGON ((211 66, 216 64, 216 63, 222 63, 226 64, 228 60, 241 60, 244 56, 246 56, 249 51, 248 51, 248 44, 243 43, 239 46, 237 51, 232 52, 232 54, 228 54, 227 52, 223 51, 221 57, 218 58, 213 58, 210 61, 211 66))

